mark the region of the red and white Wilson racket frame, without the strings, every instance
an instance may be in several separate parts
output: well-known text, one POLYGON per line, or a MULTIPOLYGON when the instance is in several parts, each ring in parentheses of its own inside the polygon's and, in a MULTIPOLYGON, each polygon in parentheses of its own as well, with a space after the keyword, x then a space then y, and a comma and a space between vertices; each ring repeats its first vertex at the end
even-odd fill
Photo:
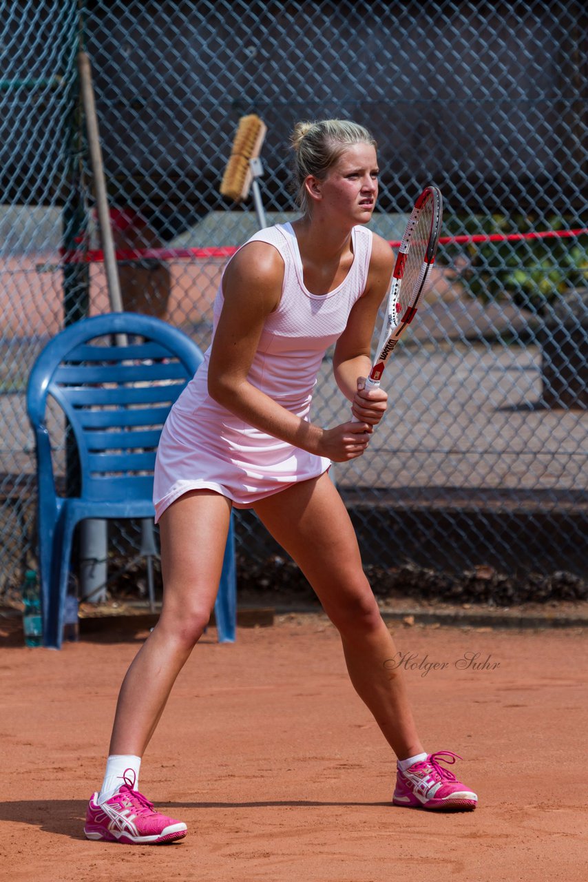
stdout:
POLYGON ((382 378, 383 370, 386 366, 386 363, 388 362, 388 359, 394 351, 398 340, 406 331, 406 326, 410 325, 410 323, 413 321, 413 318, 419 307, 421 296, 427 290, 429 281, 429 270, 431 266, 435 263, 435 254, 437 250, 437 245, 439 243, 442 220, 443 197, 441 195, 441 191, 438 189, 438 187, 435 186, 425 187, 425 189, 421 193, 421 196, 414 203, 413 211, 410 218, 408 219, 408 223, 406 224, 405 234, 403 235, 402 242, 398 247, 396 263, 394 265, 394 271, 392 273, 390 294, 388 295, 388 306, 386 310, 387 315, 383 322, 380 339, 378 340, 376 359, 374 361, 372 369, 369 372, 369 377, 366 380, 366 389, 374 389, 380 385, 380 379, 382 378), (400 310, 398 297, 400 295, 402 277, 406 266, 406 256, 408 254, 409 248, 411 247, 413 232, 416 228, 417 221, 421 216, 421 212, 424 206, 426 206, 431 200, 433 202, 431 228, 429 231, 427 249, 425 250, 425 255, 421 266, 421 272, 419 273, 417 283, 414 286, 414 295, 411 298, 410 305, 405 310, 404 315, 398 319, 398 310, 400 310))

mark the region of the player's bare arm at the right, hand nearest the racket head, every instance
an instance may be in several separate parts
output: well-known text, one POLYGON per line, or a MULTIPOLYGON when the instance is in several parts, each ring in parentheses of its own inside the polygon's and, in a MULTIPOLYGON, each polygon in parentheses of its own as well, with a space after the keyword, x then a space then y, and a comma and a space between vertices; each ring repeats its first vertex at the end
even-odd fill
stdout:
POLYGON ((366 289, 349 314, 333 356, 337 385, 352 402, 354 417, 371 426, 382 419, 388 398, 383 389, 366 392, 364 385, 371 369, 370 345, 377 310, 388 291, 393 265, 390 245, 379 235, 374 235, 366 289))

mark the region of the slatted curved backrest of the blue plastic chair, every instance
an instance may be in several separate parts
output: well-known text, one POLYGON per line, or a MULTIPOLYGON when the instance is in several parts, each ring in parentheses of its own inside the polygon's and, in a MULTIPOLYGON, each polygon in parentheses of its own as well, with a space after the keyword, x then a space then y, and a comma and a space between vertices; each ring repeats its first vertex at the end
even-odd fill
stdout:
POLYGON ((29 418, 44 425, 49 395, 63 408, 78 446, 82 496, 143 499, 153 489, 163 423, 202 360, 196 343, 158 318, 119 312, 82 319, 34 364, 29 418))

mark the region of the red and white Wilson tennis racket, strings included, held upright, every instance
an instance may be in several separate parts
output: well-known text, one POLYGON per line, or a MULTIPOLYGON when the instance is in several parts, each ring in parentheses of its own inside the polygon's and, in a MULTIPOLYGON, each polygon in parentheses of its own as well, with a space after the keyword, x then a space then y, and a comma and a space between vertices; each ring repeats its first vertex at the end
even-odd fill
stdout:
POLYGON ((366 389, 380 385, 386 363, 407 325, 413 321, 430 282, 443 218, 443 198, 437 187, 425 187, 414 203, 398 248, 388 306, 366 389))

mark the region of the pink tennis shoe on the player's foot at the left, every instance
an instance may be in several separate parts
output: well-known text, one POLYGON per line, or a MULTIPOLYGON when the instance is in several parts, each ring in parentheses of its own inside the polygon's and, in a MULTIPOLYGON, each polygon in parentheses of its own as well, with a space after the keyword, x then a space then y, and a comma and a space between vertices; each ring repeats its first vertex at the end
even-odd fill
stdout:
POLYGON ((124 842, 127 845, 160 845, 183 839, 188 827, 153 809, 153 803, 133 789, 132 778, 123 775, 123 785, 106 802, 98 804, 94 793, 86 811, 86 839, 103 839, 108 842, 124 842))

